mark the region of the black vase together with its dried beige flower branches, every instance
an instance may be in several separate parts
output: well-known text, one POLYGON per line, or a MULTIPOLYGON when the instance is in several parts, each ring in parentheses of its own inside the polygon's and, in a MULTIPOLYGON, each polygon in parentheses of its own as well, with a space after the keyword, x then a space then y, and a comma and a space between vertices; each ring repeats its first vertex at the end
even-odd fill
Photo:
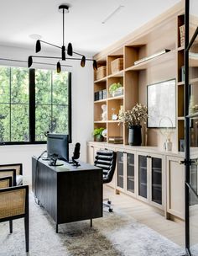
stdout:
POLYGON ((122 112, 118 119, 122 124, 128 125, 128 144, 131 146, 141 146, 142 134, 141 124, 148 118, 147 107, 143 104, 136 104, 133 109, 122 112))

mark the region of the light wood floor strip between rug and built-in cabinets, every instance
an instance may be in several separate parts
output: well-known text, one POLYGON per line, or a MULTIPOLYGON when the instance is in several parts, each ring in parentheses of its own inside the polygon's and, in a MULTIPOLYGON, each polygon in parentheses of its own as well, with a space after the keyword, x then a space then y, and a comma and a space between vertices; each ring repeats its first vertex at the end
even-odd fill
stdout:
POLYGON ((104 186, 103 197, 110 198, 112 205, 122 209, 123 213, 132 216, 134 219, 159 232, 174 243, 185 247, 185 223, 166 220, 164 216, 139 200, 128 195, 116 195, 114 189, 104 186))

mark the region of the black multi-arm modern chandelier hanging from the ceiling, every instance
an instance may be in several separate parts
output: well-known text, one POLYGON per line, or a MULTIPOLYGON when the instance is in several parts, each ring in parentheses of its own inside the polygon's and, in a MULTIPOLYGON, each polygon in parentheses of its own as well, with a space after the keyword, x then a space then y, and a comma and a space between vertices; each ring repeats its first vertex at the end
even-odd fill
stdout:
MULTIPOLYGON (((63 45, 62 46, 53 45, 53 44, 50 44, 50 43, 48 43, 44 40, 37 40, 35 51, 36 51, 36 53, 41 51, 41 43, 43 43, 43 44, 46 44, 46 45, 51 45, 51 46, 54 46, 56 48, 59 48, 60 51, 61 51, 61 56, 59 56, 59 57, 55 57, 55 56, 37 56, 37 55, 29 56, 28 67, 31 67, 33 65, 33 59, 34 58, 44 58, 44 59, 58 59, 59 60, 56 63, 56 71, 58 73, 61 72, 60 61, 66 61, 66 60, 81 61, 81 67, 86 66, 86 61, 93 61, 93 69, 96 71, 97 70, 96 60, 88 59, 88 58, 86 58, 86 56, 82 55, 81 53, 73 51, 73 47, 72 47, 71 43, 69 43, 67 45, 67 48, 65 47, 65 13, 69 13, 69 6, 66 5, 66 4, 61 4, 59 6, 59 11, 60 11, 60 13, 63 13, 63 45), (72 56, 72 57, 67 57, 66 54, 67 54, 67 56, 72 56), (73 57, 73 55, 81 56, 81 57, 73 57)), ((36 62, 34 62, 34 63, 36 63, 36 62)), ((67 66, 67 65, 62 65, 62 66, 63 67, 70 67, 70 66, 67 66)))

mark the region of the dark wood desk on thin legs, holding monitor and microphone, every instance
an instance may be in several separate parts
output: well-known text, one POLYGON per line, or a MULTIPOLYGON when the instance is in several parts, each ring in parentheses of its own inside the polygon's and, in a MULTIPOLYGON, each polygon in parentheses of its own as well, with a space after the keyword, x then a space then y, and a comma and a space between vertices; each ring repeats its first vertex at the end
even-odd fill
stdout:
POLYGON ((32 188, 39 203, 56 223, 102 217, 102 169, 87 163, 60 167, 32 158, 32 188))

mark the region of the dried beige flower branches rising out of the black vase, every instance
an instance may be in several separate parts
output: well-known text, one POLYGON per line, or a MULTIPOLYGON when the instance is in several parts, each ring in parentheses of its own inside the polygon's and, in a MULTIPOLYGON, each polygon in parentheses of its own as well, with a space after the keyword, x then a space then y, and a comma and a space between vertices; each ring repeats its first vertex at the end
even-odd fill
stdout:
POLYGON ((118 115, 120 123, 127 124, 128 128, 133 125, 140 126, 142 122, 146 122, 147 118, 147 107, 143 104, 136 104, 133 109, 118 115))

